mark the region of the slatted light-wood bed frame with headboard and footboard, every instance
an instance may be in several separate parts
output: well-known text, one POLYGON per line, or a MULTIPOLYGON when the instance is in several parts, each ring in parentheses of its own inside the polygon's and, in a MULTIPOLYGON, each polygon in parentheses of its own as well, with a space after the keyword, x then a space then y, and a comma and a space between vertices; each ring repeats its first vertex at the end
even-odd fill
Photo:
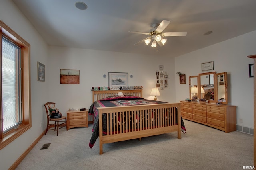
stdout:
MULTIPOLYGON (((102 98, 113 96, 118 94, 118 90, 110 91, 92 91, 93 102, 100 100, 102 98)), ((122 90, 125 95, 134 95, 142 97, 142 90, 122 90)), ((148 137, 153 135, 159 135, 170 132, 177 132, 178 139, 181 138, 181 104, 175 103, 164 103, 164 104, 146 104, 146 105, 133 105, 133 106, 117 106, 117 107, 101 107, 98 108, 98 121, 99 121, 99 145, 100 154, 103 154, 103 144, 112 143, 117 141, 125 141, 129 139, 139 139, 142 137, 148 137), (178 114, 175 114, 175 108, 177 108, 178 114), (150 112, 150 117, 152 119, 146 119, 145 114, 150 112), (135 114, 134 114, 135 113, 135 114), (136 114, 142 113, 142 114, 136 114), (102 115, 107 114, 107 129, 111 132, 113 129, 117 129, 116 133, 107 133, 103 135, 103 123, 102 115), (127 116, 122 116, 121 120, 116 120, 114 115, 125 114, 127 116), (143 116, 144 115, 144 116, 143 116), (124 118, 126 117, 126 118, 124 118), (127 117, 136 117, 138 121, 130 123, 122 123, 127 117), (109 120, 113 122, 108 122, 109 120), (123 120, 122 120, 123 119, 123 120), (147 127, 148 123, 153 123, 154 126, 147 127), (151 122, 150 122, 151 121, 151 122), (119 127, 119 122, 121 122, 119 127), (176 123, 175 123, 176 122, 176 123), (138 123, 139 128, 129 127, 130 124, 138 123), (118 127, 120 128, 118 131, 118 127), (123 130, 130 129, 130 131, 123 130)), ((131 120, 133 121, 133 119, 131 120)))

